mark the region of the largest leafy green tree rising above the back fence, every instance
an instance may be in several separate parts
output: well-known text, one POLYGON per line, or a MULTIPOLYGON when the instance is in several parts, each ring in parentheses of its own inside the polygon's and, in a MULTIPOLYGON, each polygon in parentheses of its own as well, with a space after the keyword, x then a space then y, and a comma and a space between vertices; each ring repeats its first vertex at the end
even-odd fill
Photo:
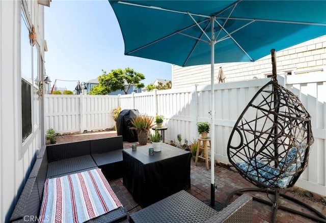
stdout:
POLYGON ((98 77, 99 84, 93 87, 89 94, 107 94, 116 90, 122 90, 127 94, 133 85, 137 88, 145 86, 144 83, 141 83, 145 79, 144 74, 130 68, 111 70, 108 74, 104 70, 102 72, 103 74, 98 77))

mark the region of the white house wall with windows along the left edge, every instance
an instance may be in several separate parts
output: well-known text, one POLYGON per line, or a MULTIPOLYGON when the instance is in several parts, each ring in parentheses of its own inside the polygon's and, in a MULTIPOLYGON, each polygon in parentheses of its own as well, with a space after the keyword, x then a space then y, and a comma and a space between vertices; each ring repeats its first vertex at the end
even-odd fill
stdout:
MULTIPOLYGON (((0 1, 0 222, 7 222, 21 191, 25 175, 41 147, 40 123, 22 143, 21 116, 21 5, 36 27, 39 53, 44 58, 44 9, 37 1, 0 1)), ((40 57, 39 57, 40 58, 40 57)), ((43 77, 43 65, 39 64, 43 77)), ((32 97, 32 96, 31 96, 32 97)), ((32 99, 33 100, 33 99, 32 99)), ((40 102, 41 103, 41 102, 40 102)), ((33 107, 33 104, 32 104, 33 107)), ((39 108, 33 108, 39 109, 39 108)), ((34 117, 35 118, 35 117, 34 117)), ((38 115, 40 118, 40 115, 38 115)))

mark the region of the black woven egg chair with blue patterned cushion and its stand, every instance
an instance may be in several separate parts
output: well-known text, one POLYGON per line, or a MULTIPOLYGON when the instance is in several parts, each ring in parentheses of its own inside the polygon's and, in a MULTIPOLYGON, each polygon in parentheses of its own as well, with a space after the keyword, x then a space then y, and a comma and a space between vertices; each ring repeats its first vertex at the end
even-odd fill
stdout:
MULTIPOLYGON (((318 216, 298 212, 280 206, 280 190, 291 187, 308 165, 311 145, 314 141, 311 131, 311 116, 298 97, 277 82, 276 53, 271 50, 273 75, 253 97, 236 121, 231 132, 227 154, 229 162, 242 177, 262 188, 268 194, 275 194, 274 200, 254 200, 273 205, 273 219, 276 222, 278 208, 300 214, 318 221, 326 217, 301 201, 296 203, 312 209, 318 216)), ((240 189, 234 194, 257 188, 240 189)), ((291 199, 293 200, 293 199, 291 199)))

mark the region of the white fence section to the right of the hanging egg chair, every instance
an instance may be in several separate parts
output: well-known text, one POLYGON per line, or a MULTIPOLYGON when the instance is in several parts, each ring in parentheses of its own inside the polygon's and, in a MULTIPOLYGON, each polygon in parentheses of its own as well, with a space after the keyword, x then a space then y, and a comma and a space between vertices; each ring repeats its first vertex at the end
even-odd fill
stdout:
POLYGON ((287 89, 300 97, 311 115, 314 144, 309 154, 308 168, 296 185, 326 195, 326 74, 287 77, 287 89))

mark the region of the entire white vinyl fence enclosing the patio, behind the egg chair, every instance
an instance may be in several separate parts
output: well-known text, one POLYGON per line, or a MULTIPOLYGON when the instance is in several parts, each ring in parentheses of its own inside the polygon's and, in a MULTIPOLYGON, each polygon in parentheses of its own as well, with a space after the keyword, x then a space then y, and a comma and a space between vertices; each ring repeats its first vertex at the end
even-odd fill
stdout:
MULTIPOLYGON (((214 85, 215 136, 210 137, 215 140, 216 160, 229 163, 227 144, 233 125, 258 89, 269 80, 268 78, 214 85)), ((312 116, 315 142, 309 156, 309 166, 296 185, 326 196, 326 74, 279 76, 278 81, 300 97, 312 116)), ((45 127, 58 126, 58 130, 62 132, 65 128, 69 129, 69 132, 83 131, 85 126, 87 130, 91 130, 92 126, 95 129, 110 128, 115 124, 111 113, 118 105, 122 110, 137 109, 141 114, 164 115, 163 124, 168 127, 165 132, 166 142, 177 140, 177 134, 181 134, 182 142, 184 139, 193 142, 198 138, 196 123, 210 122, 210 85, 98 98, 96 100, 96 96, 89 95, 46 95, 45 127), (78 110, 82 107, 79 103, 84 105, 85 110, 82 112, 78 110), (106 119, 107 116, 109 120, 106 119), (84 118, 79 123, 80 117, 84 118), (107 126, 98 128, 98 123, 107 123, 107 126)))

